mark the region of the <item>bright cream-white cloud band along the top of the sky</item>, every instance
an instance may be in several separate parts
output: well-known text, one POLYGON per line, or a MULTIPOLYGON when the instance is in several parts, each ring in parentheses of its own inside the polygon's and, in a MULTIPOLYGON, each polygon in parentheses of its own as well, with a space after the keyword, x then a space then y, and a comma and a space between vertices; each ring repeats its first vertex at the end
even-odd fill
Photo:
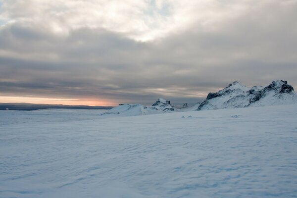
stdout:
POLYGON ((215 30, 230 19, 275 2, 292 1, 2 0, 0 19, 62 35, 80 28, 103 28, 138 41, 151 41, 180 33, 195 23, 200 31, 215 30))

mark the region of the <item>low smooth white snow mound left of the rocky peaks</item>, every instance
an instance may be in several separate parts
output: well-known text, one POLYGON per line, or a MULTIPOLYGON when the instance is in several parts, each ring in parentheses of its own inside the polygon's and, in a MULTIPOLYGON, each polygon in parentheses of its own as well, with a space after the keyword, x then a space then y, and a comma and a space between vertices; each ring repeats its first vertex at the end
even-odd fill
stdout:
POLYGON ((144 106, 142 104, 120 104, 113 107, 107 112, 101 114, 101 116, 135 116, 135 115, 150 115, 165 113, 158 106, 144 106))

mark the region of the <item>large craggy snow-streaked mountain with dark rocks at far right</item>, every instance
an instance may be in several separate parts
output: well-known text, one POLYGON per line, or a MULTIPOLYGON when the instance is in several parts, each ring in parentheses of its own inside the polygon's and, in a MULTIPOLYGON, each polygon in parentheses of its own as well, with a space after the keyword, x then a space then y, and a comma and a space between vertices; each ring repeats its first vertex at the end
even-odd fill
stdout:
POLYGON ((273 81, 267 87, 248 88, 239 82, 231 83, 217 93, 209 93, 197 110, 268 106, 297 103, 297 94, 287 81, 273 81))

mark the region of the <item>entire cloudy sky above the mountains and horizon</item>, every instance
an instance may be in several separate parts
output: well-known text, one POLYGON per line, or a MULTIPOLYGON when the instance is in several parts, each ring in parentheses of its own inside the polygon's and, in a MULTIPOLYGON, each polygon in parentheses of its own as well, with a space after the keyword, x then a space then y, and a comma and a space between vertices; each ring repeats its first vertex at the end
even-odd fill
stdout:
POLYGON ((297 0, 0 0, 0 102, 194 104, 297 88, 297 0))

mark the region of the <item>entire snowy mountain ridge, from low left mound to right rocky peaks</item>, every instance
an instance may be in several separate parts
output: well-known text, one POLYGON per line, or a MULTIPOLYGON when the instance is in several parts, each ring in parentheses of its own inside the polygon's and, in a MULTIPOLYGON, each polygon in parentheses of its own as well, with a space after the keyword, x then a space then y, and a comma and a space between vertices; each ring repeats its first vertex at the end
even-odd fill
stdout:
POLYGON ((159 98, 152 106, 142 104, 120 104, 103 116, 135 116, 180 111, 210 110, 222 108, 241 108, 249 106, 270 106, 297 103, 297 94, 287 81, 273 81, 267 87, 254 86, 249 88, 235 81, 223 90, 209 93, 202 103, 175 107, 169 100, 159 98))

